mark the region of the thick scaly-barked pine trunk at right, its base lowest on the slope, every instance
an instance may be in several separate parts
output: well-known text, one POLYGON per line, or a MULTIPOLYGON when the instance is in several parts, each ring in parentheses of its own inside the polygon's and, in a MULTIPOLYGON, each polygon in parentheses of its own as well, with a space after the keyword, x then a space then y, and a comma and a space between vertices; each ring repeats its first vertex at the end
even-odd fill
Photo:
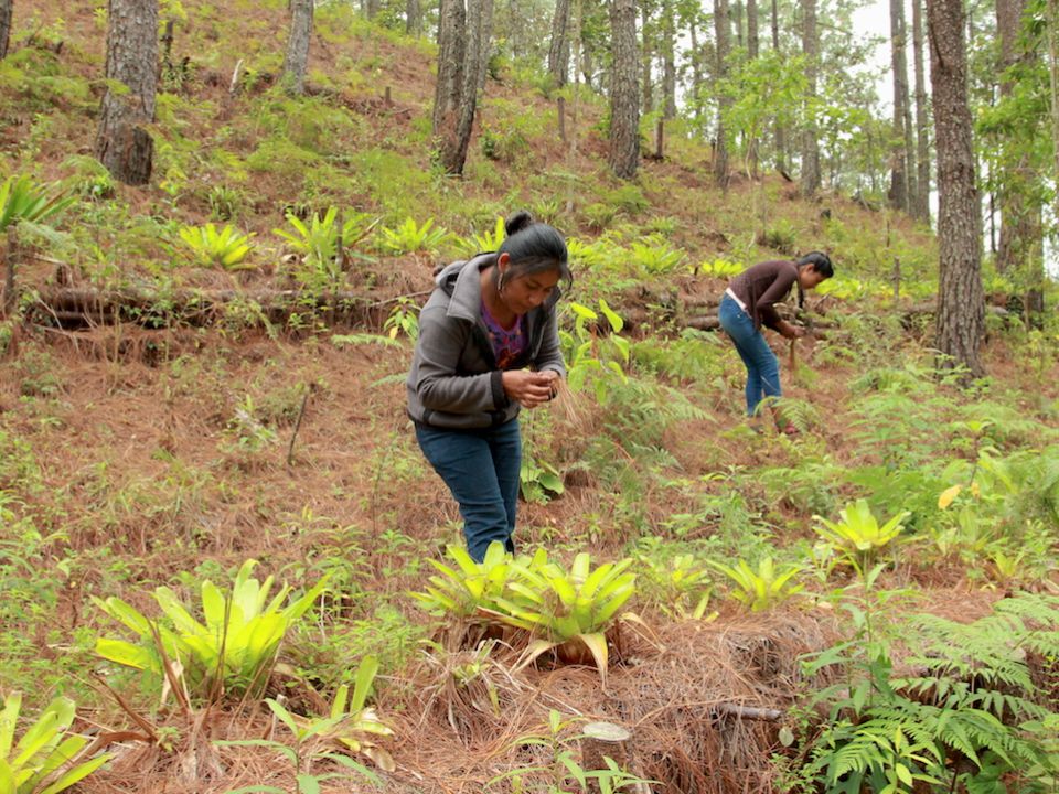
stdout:
POLYGON ((978 348, 985 326, 982 236, 971 146, 962 0, 927 0, 930 82, 938 148, 937 347, 943 366, 983 374, 978 348))

